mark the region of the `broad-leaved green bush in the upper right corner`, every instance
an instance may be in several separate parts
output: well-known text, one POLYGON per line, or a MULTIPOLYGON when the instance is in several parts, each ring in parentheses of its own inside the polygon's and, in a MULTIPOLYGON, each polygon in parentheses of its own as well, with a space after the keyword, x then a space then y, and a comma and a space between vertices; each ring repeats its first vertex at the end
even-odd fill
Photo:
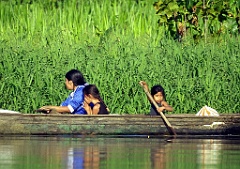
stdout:
POLYGON ((154 7, 159 25, 179 40, 240 32, 238 0, 159 0, 154 7))

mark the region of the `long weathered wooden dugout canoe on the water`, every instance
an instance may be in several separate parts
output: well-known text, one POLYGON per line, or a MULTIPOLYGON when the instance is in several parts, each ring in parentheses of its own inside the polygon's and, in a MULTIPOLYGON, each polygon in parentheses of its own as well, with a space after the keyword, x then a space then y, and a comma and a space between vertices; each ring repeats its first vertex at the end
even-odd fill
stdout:
MULTIPOLYGON (((239 135, 240 114, 166 115, 177 135, 239 135)), ((0 111, 0 135, 169 135, 160 116, 22 114, 0 111)))

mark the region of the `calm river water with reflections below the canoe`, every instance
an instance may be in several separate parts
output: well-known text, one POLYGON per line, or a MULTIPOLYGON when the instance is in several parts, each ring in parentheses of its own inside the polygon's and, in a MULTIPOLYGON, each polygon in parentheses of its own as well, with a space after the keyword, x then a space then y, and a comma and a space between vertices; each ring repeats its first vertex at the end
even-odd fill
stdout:
POLYGON ((0 136, 0 169, 239 169, 240 136, 0 136))

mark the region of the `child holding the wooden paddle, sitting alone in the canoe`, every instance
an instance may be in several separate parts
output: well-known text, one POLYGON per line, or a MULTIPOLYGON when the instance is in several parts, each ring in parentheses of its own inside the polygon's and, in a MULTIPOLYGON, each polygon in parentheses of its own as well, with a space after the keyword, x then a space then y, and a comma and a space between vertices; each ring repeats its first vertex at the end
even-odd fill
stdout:
MULTIPOLYGON (((139 83, 149 91, 148 85, 145 81, 140 81, 139 83)), ((160 112, 164 113, 164 111, 173 111, 173 108, 166 101, 165 92, 161 85, 153 86, 151 88, 151 95, 159 108, 156 109, 153 103, 149 100, 151 103, 150 115, 159 115, 160 112)))

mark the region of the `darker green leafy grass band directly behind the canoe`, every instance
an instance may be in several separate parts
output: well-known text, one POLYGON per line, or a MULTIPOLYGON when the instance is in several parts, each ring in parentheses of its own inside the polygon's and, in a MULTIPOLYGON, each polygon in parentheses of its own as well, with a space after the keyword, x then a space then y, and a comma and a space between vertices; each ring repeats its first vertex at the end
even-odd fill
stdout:
POLYGON ((112 113, 149 112, 140 80, 149 87, 161 84, 173 113, 196 113, 204 105, 220 113, 239 112, 238 38, 197 46, 167 39, 154 46, 152 39, 119 38, 101 45, 1 43, 0 107, 32 113, 43 105, 59 105, 70 92, 64 89, 65 73, 78 68, 99 87, 112 113))

